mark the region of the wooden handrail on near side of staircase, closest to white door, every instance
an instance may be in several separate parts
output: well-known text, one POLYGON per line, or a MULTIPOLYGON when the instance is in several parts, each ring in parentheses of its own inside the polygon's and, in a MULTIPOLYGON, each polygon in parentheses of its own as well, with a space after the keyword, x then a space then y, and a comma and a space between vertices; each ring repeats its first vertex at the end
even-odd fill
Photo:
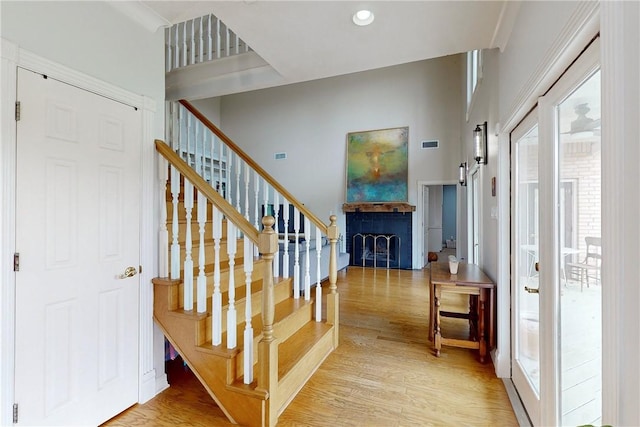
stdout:
POLYGON ((231 206, 224 197, 209 185, 196 171, 194 171, 184 160, 176 154, 164 141, 156 139, 156 150, 167 161, 175 166, 178 171, 188 179, 194 187, 198 189, 204 196, 222 211, 225 217, 233 222, 239 229, 255 244, 258 244, 259 232, 255 227, 242 216, 235 207, 231 206))

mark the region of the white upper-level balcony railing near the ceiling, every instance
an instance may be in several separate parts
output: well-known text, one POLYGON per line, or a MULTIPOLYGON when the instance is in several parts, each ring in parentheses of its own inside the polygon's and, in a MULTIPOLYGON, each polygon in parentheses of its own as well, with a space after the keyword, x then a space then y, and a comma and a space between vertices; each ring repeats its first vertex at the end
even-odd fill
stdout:
POLYGON ((251 51, 213 14, 175 24, 165 30, 166 72, 251 51))

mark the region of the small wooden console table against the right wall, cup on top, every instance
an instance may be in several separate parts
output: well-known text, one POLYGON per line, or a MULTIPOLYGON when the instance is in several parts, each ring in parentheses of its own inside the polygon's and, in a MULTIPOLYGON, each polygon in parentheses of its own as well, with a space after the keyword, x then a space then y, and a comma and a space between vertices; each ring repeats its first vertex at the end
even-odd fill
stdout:
POLYGON ((440 356, 443 345, 478 349, 480 362, 484 363, 487 350, 494 346, 493 299, 495 284, 475 264, 460 263, 458 273, 449 272, 449 263, 431 263, 429 280, 429 339, 434 343, 435 354, 440 356), (442 294, 450 292, 469 295, 467 313, 441 310, 442 294), (440 328, 441 317, 468 319, 470 337, 468 340, 446 338, 440 328))

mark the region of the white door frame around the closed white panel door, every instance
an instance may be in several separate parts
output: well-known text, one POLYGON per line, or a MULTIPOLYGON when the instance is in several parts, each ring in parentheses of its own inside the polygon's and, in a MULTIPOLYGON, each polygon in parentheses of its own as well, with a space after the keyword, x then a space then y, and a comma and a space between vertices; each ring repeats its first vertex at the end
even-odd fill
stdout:
MULTIPOLYGON (((15 179, 16 179, 16 125, 15 103, 17 89, 17 67, 26 68, 51 78, 64 81, 81 89, 111 98, 142 110, 142 197, 140 200, 140 310, 139 310, 139 378, 138 400, 145 402, 155 396, 163 387, 156 384, 156 372, 153 360, 153 286, 151 279, 156 275, 154 265, 156 230, 154 223, 154 189, 157 177, 154 173, 155 149, 153 148, 152 123, 156 112, 156 101, 141 96, 110 83, 67 68, 44 59, 17 45, 0 39, 2 43, 2 65, 0 80, 0 161, 2 162, 2 187, 0 188, 0 425, 12 424, 14 403, 15 369, 15 273, 13 254, 15 253, 15 179)), ((165 380, 166 382, 166 377, 165 380)), ((161 381, 162 382, 162 381, 161 381)))

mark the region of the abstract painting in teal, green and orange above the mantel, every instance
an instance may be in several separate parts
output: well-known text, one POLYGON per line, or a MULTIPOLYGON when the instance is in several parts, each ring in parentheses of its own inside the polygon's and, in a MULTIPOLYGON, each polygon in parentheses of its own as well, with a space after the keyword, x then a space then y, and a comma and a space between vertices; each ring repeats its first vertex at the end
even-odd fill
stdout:
POLYGON ((409 128, 347 134, 347 203, 408 201, 409 128))

